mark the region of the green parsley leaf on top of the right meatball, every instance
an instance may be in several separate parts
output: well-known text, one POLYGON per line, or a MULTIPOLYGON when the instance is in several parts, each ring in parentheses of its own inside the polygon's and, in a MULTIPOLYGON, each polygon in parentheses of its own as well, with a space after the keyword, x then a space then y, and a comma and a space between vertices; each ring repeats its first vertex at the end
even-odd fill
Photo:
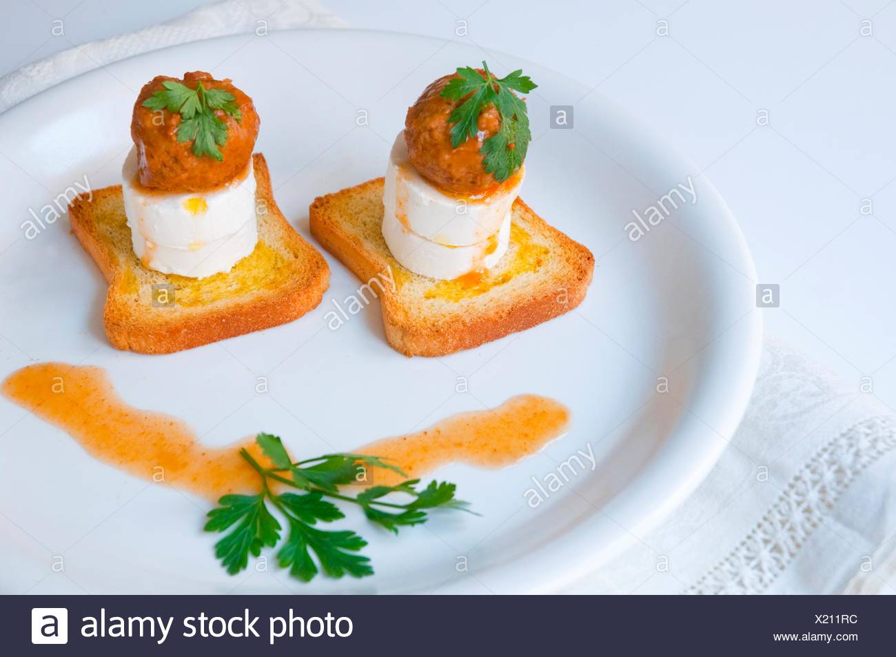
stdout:
POLYGON ((497 108, 501 115, 501 127, 496 134, 482 143, 479 152, 485 156, 483 165, 487 173, 492 174, 500 183, 520 170, 523 160, 526 159, 529 143, 532 141, 526 103, 513 91, 529 93, 538 85, 532 82, 528 75, 523 75, 522 70, 513 71, 498 79, 488 70, 485 62, 482 63, 482 68, 486 72, 485 77, 470 66, 457 69, 459 77, 452 78, 440 95, 455 101, 469 96, 454 108, 448 117, 448 122, 453 124, 451 128, 453 148, 476 137, 479 114, 482 110, 489 105, 497 108))

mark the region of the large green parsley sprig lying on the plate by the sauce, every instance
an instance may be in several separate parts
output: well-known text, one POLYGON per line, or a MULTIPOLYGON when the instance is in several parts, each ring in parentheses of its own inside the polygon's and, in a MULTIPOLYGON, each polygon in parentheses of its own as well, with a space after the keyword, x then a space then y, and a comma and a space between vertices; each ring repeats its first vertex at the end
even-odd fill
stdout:
POLYGON ((454 497, 454 484, 446 481, 433 481, 420 490, 419 480, 405 480, 395 486, 365 488, 355 497, 340 493, 340 486, 366 481, 369 468, 384 468, 404 476, 399 468, 376 456, 324 454, 293 462, 279 437, 262 433, 255 442, 272 467, 264 467, 246 449, 240 450, 240 455, 261 477, 261 491, 257 495, 221 497, 220 506, 209 512, 205 525, 206 532, 228 532, 215 544, 215 555, 230 575, 246 569, 250 555, 260 556, 264 548, 276 547, 283 538, 283 526, 271 513, 269 503, 285 519, 288 529, 277 561, 303 582, 312 580, 320 570, 331 577, 374 574, 370 559, 358 554, 367 544, 358 533, 318 528, 318 523, 345 517, 338 506, 323 497, 360 506, 367 520, 396 534, 400 527, 425 523, 431 509, 469 511, 466 502, 454 497), (274 492, 273 482, 302 492, 274 492), (410 501, 397 503, 389 497, 392 494, 410 497, 410 501))

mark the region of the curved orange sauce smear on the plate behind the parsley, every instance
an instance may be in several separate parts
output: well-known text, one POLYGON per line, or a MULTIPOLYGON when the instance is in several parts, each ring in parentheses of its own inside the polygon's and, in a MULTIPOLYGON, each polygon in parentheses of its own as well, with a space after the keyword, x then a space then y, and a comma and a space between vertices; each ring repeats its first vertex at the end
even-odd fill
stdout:
MULTIPOLYGON (((258 474, 239 455, 246 447, 256 460, 266 462, 254 437, 225 447, 204 446, 183 419, 127 404, 99 367, 22 367, 6 378, 3 393, 65 430, 91 456, 141 479, 164 481, 212 500, 258 489, 258 474)), ((526 394, 493 410, 461 413, 423 431, 353 451, 389 458, 409 477, 449 462, 498 468, 534 454, 561 436, 568 422, 563 404, 526 394)), ((392 471, 375 469, 372 474, 370 483, 377 485, 401 480, 392 471)))

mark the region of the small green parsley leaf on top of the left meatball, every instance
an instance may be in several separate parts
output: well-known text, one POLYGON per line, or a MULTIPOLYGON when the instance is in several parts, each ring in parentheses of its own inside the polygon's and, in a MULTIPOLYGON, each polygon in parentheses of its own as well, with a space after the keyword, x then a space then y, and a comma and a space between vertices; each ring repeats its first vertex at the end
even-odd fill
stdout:
POLYGON ((144 100, 143 107, 152 111, 168 109, 179 114, 181 122, 177 126, 177 141, 192 141, 193 153, 197 158, 208 155, 215 160, 223 160, 218 147, 227 143, 228 125, 215 111, 220 110, 237 121, 242 120, 234 95, 223 89, 206 89, 202 82, 198 82, 195 89, 173 80, 162 82, 162 86, 165 89, 144 100))

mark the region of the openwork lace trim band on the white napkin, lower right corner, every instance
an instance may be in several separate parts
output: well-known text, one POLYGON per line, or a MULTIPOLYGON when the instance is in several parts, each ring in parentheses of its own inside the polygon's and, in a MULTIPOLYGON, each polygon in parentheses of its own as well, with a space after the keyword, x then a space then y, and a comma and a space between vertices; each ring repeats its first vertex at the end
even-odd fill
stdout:
POLYGON ((859 422, 824 445, 762 520, 688 593, 761 593, 768 588, 857 475, 896 447, 892 416, 859 422))

